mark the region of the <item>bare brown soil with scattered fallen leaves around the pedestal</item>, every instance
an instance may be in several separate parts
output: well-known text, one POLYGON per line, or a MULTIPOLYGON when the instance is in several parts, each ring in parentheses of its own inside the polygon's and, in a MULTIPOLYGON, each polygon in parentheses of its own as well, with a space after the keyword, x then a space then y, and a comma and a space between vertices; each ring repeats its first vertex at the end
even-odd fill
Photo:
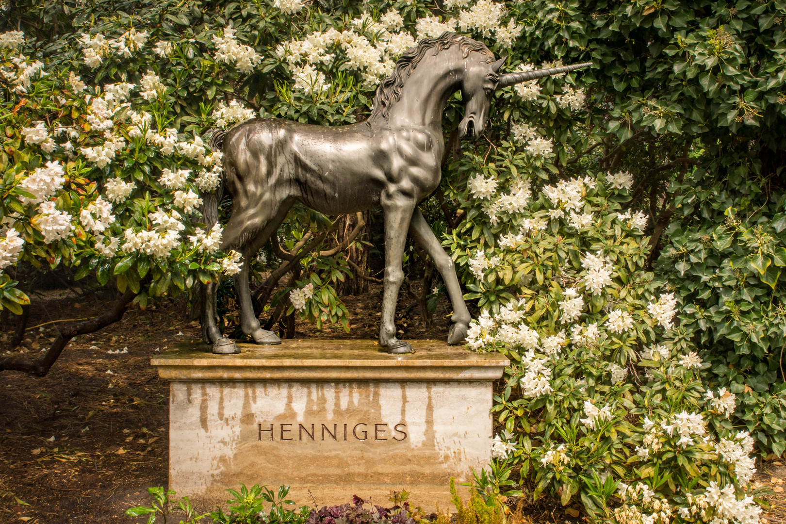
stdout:
MULTIPOLYGON (((297 321, 296 337, 376 339, 381 299, 377 285, 364 295, 343 298, 351 314, 349 334, 341 328, 316 332, 297 321)), ((402 292, 399 312, 412 302, 402 292)), ((53 291, 36 297, 31 328, 15 351, 41 351, 56 335, 57 321, 104 310, 105 301, 96 295, 53 291)), ((409 311, 397 321, 402 339, 446 337, 446 299, 440 299, 429 326, 417 306, 409 311)), ((169 440, 168 383, 158 378, 149 359, 174 343, 200 338, 197 325, 186 318, 182 302, 131 309, 123 321, 72 340, 46 377, 0 374, 0 524, 144 522, 124 511, 149 504, 148 487, 167 485, 169 440)), ((0 324, 3 353, 12 329, 0 324)), ((758 469, 755 481, 773 488, 765 518, 786 524, 786 466, 776 460, 758 469)), ((347 501, 353 494, 347 493, 347 501)), ((516 521, 577 522, 581 518, 572 517, 577 509, 530 502, 516 521)))

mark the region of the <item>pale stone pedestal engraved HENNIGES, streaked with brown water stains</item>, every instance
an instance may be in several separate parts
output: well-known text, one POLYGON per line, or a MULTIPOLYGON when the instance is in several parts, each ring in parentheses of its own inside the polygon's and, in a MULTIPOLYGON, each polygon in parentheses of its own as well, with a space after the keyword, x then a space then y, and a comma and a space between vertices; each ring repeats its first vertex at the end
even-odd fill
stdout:
POLYGON ((442 342, 389 355, 371 341, 184 344, 152 358, 170 383, 169 485, 205 504, 244 482, 291 485, 298 504, 387 503, 407 489, 450 503, 450 476, 487 465, 491 383, 508 361, 442 342))

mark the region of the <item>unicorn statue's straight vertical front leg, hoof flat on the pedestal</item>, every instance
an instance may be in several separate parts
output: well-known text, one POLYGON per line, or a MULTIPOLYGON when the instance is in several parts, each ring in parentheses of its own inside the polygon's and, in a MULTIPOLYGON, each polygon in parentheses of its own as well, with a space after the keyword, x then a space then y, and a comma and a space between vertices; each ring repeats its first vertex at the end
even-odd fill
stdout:
POLYGON ((380 346, 387 347, 390 354, 412 353, 409 343, 396 338, 395 306, 404 281, 404 244, 415 202, 402 195, 387 196, 383 197, 382 208, 385 213, 385 274, 380 346))

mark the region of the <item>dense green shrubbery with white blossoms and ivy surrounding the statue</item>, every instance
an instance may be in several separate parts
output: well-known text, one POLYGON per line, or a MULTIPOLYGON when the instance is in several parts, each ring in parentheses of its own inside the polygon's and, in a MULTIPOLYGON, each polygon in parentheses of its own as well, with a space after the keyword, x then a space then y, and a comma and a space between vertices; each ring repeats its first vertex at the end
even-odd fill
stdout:
MULTIPOLYGON (((503 72, 593 60, 498 90, 474 143, 451 97, 443 182, 421 206, 465 285, 468 346, 512 361, 495 478, 592 519, 756 522, 752 453, 786 449, 782 148, 762 131, 786 114, 786 8, 694 3, 17 9, 0 32, 0 304, 28 301, 7 270, 20 262, 140 306, 196 300, 239 270, 219 251, 228 200, 218 223, 200 211, 220 196, 213 130, 364 119, 420 38, 477 38, 503 72)), ((270 322, 349 328, 336 287, 356 270, 353 220, 293 207, 252 262, 270 322)))

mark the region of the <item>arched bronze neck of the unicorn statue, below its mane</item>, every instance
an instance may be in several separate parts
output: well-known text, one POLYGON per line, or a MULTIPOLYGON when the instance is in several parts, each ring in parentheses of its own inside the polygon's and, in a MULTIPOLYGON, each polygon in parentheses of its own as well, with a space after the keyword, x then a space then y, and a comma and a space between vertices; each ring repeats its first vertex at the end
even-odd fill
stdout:
POLYGON ((456 60, 454 55, 461 56, 457 46, 435 55, 429 53, 417 64, 402 87, 399 101, 391 106, 388 126, 427 126, 442 131, 445 104, 461 86, 463 75, 464 60, 456 60))

